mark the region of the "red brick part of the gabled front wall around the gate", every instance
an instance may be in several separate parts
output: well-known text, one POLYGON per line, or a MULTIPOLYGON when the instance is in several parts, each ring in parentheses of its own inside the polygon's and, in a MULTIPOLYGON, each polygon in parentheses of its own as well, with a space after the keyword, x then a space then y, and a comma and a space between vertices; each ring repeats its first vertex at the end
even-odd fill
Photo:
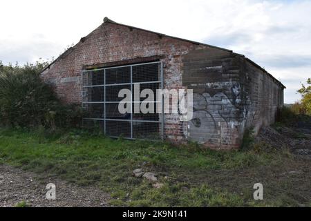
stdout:
MULTIPOLYGON (((41 73, 45 81, 53 82, 57 95, 68 103, 82 102, 82 68, 86 65, 162 55, 164 88, 183 88, 181 56, 189 50, 207 48, 156 33, 131 29, 114 23, 103 23, 73 47, 72 52, 58 59, 41 73), (78 77, 72 82, 62 82, 78 77)), ((178 115, 165 115, 164 133, 169 140, 185 140, 178 115)))

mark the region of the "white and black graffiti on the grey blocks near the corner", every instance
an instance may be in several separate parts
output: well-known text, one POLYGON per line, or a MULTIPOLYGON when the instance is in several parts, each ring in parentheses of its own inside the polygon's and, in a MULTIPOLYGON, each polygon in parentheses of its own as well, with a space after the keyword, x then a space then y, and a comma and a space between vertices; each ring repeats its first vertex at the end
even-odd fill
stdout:
POLYGON ((194 117, 183 125, 189 140, 200 144, 230 144, 229 134, 240 134, 247 120, 254 118, 254 108, 240 84, 231 84, 222 91, 206 86, 204 92, 194 93, 194 117))

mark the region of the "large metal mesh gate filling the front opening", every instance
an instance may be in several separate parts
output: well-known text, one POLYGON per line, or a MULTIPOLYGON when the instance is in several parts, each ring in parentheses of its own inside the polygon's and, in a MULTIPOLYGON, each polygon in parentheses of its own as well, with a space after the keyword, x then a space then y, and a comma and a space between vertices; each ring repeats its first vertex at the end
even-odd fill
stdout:
MULTIPOLYGON (((142 104, 140 93, 151 89, 156 110, 156 90, 163 88, 163 70, 160 61, 111 68, 97 68, 82 72, 82 106, 86 110, 84 126, 99 126, 110 137, 159 140, 164 137, 164 120, 160 113, 134 113, 134 106, 142 104), (134 90, 139 85, 139 91, 134 90), (131 113, 120 113, 118 97, 122 89, 131 90, 131 113)), ((162 99, 160 105, 162 106, 162 99)), ((163 106, 162 112, 163 113, 163 106)))

